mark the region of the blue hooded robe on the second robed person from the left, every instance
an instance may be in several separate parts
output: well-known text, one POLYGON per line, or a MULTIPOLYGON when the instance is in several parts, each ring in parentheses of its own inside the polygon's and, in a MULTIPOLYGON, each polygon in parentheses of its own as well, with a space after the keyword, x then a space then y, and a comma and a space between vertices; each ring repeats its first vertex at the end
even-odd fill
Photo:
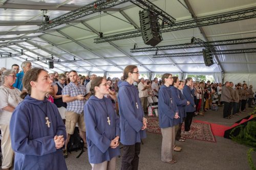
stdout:
POLYGON ((110 147, 111 140, 116 136, 120 137, 120 120, 110 99, 104 97, 98 99, 92 95, 84 106, 84 121, 90 163, 110 161, 120 155, 119 147, 115 149, 110 147))

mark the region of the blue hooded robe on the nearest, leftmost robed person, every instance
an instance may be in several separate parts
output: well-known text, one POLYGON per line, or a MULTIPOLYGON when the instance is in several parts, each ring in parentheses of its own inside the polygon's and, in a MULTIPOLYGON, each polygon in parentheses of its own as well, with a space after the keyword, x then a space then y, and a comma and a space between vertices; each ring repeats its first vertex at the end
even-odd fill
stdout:
POLYGON ((14 110, 10 121, 14 169, 67 169, 61 149, 56 149, 54 136, 67 138, 66 128, 55 104, 27 95, 14 110), (50 128, 46 124, 49 117, 50 128))

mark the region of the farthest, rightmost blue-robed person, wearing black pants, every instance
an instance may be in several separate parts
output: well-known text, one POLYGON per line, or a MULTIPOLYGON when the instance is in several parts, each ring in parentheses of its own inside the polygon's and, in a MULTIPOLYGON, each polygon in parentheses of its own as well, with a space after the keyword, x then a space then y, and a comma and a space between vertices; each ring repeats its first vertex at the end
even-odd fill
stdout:
POLYGON ((185 86, 183 88, 184 98, 189 101, 189 105, 186 105, 186 118, 185 118, 185 132, 190 132, 190 126, 193 119, 194 111, 196 110, 196 104, 194 102, 194 95, 191 92, 191 86, 193 85, 193 79, 188 77, 185 81, 185 86))

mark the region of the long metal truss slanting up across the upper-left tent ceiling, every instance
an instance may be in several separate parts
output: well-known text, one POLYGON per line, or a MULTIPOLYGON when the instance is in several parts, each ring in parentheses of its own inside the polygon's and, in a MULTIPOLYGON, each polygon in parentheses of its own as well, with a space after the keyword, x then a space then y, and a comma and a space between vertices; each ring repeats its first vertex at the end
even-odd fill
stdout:
POLYGON ((86 6, 80 7, 76 10, 70 11, 66 14, 60 15, 54 19, 49 20, 48 22, 42 23, 39 30, 48 30, 64 23, 79 19, 81 17, 103 11, 105 9, 129 2, 130 0, 97 0, 86 6))

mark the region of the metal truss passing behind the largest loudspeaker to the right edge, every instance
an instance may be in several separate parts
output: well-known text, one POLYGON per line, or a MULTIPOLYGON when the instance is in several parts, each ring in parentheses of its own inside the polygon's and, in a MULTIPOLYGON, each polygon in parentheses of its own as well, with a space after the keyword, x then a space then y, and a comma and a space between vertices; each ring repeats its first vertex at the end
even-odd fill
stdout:
MULTIPOLYGON (((185 30, 190 28, 204 27, 217 25, 220 23, 233 22, 238 20, 250 19, 256 17, 256 7, 247 8, 243 10, 222 13, 220 15, 200 17, 183 22, 176 22, 174 25, 160 26, 160 33, 185 30)), ((115 34, 111 36, 105 36, 103 38, 94 39, 95 43, 115 41, 126 38, 133 38, 141 36, 140 31, 132 31, 127 33, 115 34)))

